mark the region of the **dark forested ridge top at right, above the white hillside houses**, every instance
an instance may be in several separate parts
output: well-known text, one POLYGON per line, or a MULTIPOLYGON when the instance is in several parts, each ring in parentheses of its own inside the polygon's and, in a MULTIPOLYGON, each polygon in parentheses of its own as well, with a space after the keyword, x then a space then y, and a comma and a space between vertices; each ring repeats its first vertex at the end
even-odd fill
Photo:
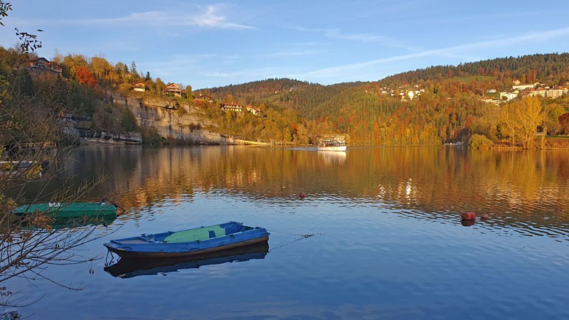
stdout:
POLYGON ((548 86, 563 85, 569 79, 569 53, 523 55, 496 58, 459 65, 438 65, 425 69, 391 75, 380 82, 394 86, 417 83, 420 80, 443 80, 453 77, 489 75, 509 85, 512 79, 521 83, 543 82, 548 86))

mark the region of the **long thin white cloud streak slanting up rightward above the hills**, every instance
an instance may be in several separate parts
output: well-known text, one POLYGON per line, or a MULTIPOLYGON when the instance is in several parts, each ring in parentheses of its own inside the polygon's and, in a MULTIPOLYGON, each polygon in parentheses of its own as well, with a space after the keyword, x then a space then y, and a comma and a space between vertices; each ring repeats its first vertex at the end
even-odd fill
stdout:
POLYGON ((395 55, 393 57, 370 60, 363 63, 353 63, 349 65, 340 65, 331 68, 324 68, 324 69, 314 70, 309 73, 305 73, 304 76, 329 77, 331 75, 346 73, 351 70, 368 68, 371 66, 381 65, 385 63, 393 63, 401 60, 424 58, 427 56, 453 56, 453 55, 455 56, 457 55, 457 53, 469 52, 471 50, 480 50, 483 48, 509 47, 509 46, 516 46, 519 44, 528 44, 528 43, 540 43, 554 38, 561 38, 565 36, 569 36, 569 28, 560 28, 560 29, 543 31, 543 32, 530 32, 520 36, 513 36, 509 38, 499 38, 489 41, 467 43, 460 46, 423 50, 420 52, 409 53, 405 55, 395 55))

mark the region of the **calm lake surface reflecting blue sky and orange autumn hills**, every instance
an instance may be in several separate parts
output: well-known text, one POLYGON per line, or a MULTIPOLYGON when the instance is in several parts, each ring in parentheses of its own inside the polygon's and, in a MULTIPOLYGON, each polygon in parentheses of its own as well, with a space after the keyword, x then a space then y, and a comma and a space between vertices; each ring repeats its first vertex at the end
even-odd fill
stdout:
POLYGON ((39 299, 20 309, 32 319, 569 319, 569 151, 101 146, 74 159, 75 181, 110 174, 90 199, 113 193, 127 212, 85 246, 100 260, 43 273, 79 291, 7 284, 39 299), (465 227, 467 211, 490 219, 465 227), (269 247, 105 271, 112 238, 230 220, 267 228, 269 247))

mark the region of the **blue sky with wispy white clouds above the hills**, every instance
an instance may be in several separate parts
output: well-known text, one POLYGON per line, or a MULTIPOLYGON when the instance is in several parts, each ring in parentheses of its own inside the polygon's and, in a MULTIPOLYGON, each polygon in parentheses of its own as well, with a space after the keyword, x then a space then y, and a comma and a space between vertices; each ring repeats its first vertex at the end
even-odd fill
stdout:
POLYGON ((102 56, 194 89, 267 78, 375 81, 430 65, 569 51, 569 6, 539 1, 14 0, 39 55, 102 56))

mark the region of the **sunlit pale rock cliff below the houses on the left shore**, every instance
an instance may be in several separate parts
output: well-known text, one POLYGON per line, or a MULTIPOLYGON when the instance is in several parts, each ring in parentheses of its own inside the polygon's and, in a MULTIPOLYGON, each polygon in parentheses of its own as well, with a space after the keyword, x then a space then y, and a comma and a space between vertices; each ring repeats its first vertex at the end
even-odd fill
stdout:
POLYGON ((127 107, 141 128, 154 128, 164 138, 196 144, 235 144, 236 137, 201 129, 211 122, 200 117, 198 110, 174 100, 125 97, 107 92, 105 102, 127 107))

